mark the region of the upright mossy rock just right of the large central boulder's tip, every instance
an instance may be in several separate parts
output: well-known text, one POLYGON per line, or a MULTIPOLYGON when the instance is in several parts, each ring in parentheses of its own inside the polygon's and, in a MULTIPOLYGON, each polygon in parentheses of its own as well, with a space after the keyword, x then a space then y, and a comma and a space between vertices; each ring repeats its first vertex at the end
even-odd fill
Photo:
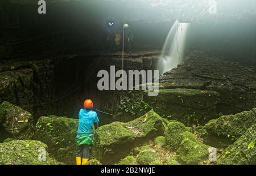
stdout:
POLYGON ((172 151, 176 151, 179 148, 183 132, 186 131, 186 128, 183 123, 180 122, 170 122, 167 126, 165 132, 166 144, 172 151))

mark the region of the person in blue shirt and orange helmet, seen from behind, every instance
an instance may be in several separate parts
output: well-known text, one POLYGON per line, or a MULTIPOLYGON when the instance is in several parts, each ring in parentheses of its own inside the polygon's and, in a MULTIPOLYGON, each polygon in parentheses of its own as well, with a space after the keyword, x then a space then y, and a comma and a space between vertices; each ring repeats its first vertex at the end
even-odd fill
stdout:
POLYGON ((79 127, 76 136, 76 164, 84 165, 89 160, 89 151, 93 143, 93 126, 98 127, 97 113, 92 111, 92 100, 84 101, 84 109, 79 112, 79 127))

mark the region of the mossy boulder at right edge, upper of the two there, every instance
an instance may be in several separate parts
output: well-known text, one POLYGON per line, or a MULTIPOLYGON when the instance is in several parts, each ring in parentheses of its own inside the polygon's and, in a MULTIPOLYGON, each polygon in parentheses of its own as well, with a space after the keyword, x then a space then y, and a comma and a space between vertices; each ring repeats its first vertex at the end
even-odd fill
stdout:
POLYGON ((256 108, 250 111, 242 111, 236 115, 223 115, 208 122, 204 128, 210 135, 238 139, 254 123, 256 123, 256 108))

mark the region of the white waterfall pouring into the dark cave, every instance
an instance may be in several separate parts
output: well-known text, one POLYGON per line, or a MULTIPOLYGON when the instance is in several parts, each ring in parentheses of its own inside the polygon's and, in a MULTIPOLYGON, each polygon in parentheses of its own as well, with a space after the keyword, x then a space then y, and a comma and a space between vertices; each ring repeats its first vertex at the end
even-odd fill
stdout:
POLYGON ((172 25, 158 63, 160 75, 177 67, 183 61, 188 28, 188 23, 180 23, 178 20, 172 25))

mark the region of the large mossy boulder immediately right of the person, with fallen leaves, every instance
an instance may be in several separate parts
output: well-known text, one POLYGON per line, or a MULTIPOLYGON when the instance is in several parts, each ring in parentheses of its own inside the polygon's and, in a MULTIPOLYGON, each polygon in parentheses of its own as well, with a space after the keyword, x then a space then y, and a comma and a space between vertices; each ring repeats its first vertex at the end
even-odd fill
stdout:
POLYGON ((135 144, 163 135, 165 126, 153 110, 134 121, 101 126, 94 132, 93 156, 102 163, 119 161, 135 144))

